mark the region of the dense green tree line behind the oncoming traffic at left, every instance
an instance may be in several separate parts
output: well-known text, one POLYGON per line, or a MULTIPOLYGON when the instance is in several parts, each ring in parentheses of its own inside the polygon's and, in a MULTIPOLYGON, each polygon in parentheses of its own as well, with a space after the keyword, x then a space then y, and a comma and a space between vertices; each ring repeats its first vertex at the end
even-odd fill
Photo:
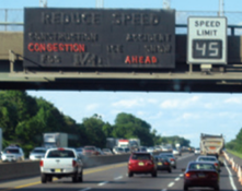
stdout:
POLYGON ((24 91, 0 92, 0 128, 3 132, 3 147, 15 143, 26 153, 43 144, 45 132, 66 132, 73 135, 77 139, 69 140, 70 147, 105 147, 106 138, 138 138, 145 146, 162 143, 189 145, 189 140, 184 138, 161 136, 148 122, 131 114, 118 114, 114 124, 104 122, 97 114, 83 118, 78 123, 51 103, 42 97, 32 97, 24 91))

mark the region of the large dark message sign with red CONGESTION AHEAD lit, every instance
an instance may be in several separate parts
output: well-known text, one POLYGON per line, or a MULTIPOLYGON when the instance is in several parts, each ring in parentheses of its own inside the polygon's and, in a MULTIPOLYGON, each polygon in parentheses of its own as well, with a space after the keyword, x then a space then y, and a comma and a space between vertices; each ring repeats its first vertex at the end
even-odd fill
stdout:
POLYGON ((25 9, 24 67, 174 69, 175 11, 25 9))

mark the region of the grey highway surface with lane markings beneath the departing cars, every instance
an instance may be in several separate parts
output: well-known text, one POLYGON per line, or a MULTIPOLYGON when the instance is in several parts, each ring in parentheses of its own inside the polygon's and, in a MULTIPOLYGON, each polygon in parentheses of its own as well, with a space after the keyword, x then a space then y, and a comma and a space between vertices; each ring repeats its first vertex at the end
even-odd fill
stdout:
MULTIPOLYGON (((72 183, 71 178, 55 179, 46 184, 41 183, 41 177, 15 179, 0 182, 0 191, 169 191, 183 190, 182 168, 187 163, 195 160, 197 155, 183 154, 177 158, 177 169, 172 174, 159 171, 157 178, 150 175, 135 175, 127 177, 127 163, 106 165, 102 167, 84 169, 83 182, 72 183)), ((30 169, 31 170, 31 169, 30 169)), ((220 190, 238 191, 242 186, 238 182, 235 174, 228 167, 221 167, 220 190)), ((189 190, 210 190, 189 188, 189 190)))

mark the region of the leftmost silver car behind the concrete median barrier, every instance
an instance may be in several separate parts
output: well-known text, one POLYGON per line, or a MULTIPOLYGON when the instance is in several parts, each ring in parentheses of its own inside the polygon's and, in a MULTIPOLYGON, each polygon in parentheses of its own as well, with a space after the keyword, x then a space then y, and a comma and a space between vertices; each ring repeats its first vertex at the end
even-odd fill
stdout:
POLYGON ((24 160, 24 152, 19 146, 8 146, 1 153, 2 162, 20 162, 24 160))

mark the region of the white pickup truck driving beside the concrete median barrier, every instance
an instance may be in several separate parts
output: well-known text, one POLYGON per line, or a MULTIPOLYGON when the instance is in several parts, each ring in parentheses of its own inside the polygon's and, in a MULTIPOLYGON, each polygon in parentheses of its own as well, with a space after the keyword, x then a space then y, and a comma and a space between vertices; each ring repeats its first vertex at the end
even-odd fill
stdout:
POLYGON ((39 162, 42 183, 53 181, 53 177, 72 177, 72 182, 82 182, 83 164, 73 148, 49 148, 39 162))

